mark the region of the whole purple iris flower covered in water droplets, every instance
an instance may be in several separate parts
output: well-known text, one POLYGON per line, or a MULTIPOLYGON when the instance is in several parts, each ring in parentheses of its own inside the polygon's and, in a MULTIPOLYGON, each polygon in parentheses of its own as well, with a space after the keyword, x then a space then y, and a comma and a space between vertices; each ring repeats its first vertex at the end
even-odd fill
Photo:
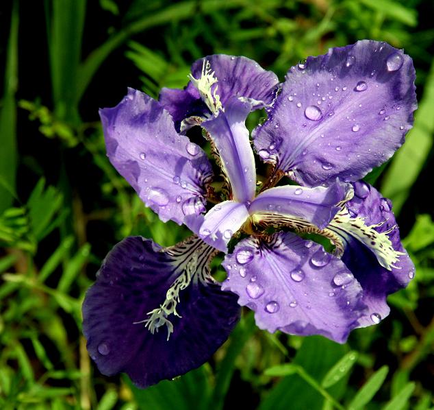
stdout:
POLYGON ((248 58, 208 56, 184 90, 165 88, 155 101, 129 89, 101 110, 114 167, 162 221, 194 235, 170 248, 129 237, 107 255, 83 306, 99 370, 126 372, 139 387, 186 373, 227 339, 240 306, 259 328, 339 343, 387 316, 386 296, 414 266, 392 204, 361 178, 404 142, 414 80, 403 51, 363 40, 309 57, 282 84, 248 58), (261 182, 245 126, 257 108, 268 119, 253 146, 274 169, 261 182), (220 165, 220 192, 207 155, 186 136, 192 126, 220 165), (209 271, 218 252, 222 283, 209 271))

